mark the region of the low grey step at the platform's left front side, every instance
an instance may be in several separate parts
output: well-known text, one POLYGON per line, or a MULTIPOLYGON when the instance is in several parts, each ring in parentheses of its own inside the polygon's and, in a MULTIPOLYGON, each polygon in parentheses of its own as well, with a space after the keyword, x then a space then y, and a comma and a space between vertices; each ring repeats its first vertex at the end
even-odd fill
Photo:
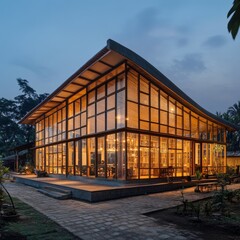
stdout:
POLYGON ((44 186, 42 188, 39 188, 38 192, 58 200, 65 200, 72 197, 72 192, 70 190, 65 190, 57 187, 44 186))

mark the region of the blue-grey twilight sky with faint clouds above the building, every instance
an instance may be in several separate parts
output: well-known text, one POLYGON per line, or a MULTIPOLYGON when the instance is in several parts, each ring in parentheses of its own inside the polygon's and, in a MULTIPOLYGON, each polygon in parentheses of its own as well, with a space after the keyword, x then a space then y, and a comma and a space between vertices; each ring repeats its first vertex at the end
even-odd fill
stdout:
POLYGON ((233 0, 0 0, 0 97, 17 78, 51 93, 111 38, 206 110, 240 100, 240 35, 227 31, 233 0))

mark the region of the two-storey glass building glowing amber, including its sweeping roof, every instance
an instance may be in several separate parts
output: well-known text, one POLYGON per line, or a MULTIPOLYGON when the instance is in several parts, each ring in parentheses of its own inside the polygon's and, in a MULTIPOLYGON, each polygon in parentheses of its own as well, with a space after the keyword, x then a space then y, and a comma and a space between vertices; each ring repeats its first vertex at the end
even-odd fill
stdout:
POLYGON ((36 126, 37 169, 118 180, 224 172, 234 130, 113 40, 21 123, 36 126))

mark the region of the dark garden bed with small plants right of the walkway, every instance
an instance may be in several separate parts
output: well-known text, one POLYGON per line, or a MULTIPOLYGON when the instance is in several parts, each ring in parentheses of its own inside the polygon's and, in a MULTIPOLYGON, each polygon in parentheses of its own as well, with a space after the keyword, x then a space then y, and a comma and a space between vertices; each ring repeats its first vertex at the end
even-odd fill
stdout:
MULTIPOLYGON (((177 207, 146 215, 155 218, 159 225, 174 224, 179 230, 187 230, 201 239, 240 239, 240 201, 236 196, 228 197, 226 191, 222 194, 223 202, 221 192, 211 199, 193 203, 183 197, 185 202, 177 207)), ((232 192, 229 195, 232 196, 232 192)))

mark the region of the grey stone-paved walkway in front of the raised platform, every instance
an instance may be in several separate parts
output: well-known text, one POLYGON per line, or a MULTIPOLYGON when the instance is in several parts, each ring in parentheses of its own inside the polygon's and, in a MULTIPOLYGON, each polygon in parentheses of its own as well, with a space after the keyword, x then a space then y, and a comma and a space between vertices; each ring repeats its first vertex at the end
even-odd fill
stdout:
MULTIPOLYGON (((137 196, 98 203, 77 200, 56 200, 19 183, 6 182, 10 194, 34 207, 53 221, 83 240, 155 240, 200 239, 197 232, 175 229, 174 225, 159 225, 144 213, 176 206, 181 192, 172 191, 137 196)), ((240 184, 228 189, 239 189, 240 184)), ((194 193, 194 188, 184 190, 189 201, 208 197, 211 193, 194 193)))

